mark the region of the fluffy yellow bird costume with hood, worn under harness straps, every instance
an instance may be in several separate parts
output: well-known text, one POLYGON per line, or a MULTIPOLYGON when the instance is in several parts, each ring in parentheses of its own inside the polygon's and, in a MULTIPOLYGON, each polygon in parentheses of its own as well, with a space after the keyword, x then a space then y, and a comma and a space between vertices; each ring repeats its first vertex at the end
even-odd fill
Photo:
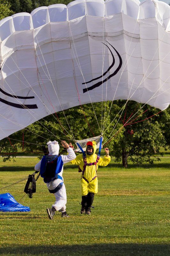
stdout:
POLYGON ((98 166, 107 166, 107 164, 110 163, 110 156, 104 156, 104 158, 100 157, 98 161, 97 157, 98 155, 95 154, 96 152, 96 142, 92 141, 92 147, 93 147, 93 154, 87 155, 86 154, 86 161, 87 165, 85 166, 84 171, 84 159, 83 154, 79 154, 76 156, 74 160, 71 161, 72 164, 79 165, 80 170, 84 173, 82 173, 81 177, 81 194, 82 196, 86 196, 88 193, 97 194, 98 192, 98 180, 97 180, 97 169, 98 166), (96 163, 92 165, 88 165, 90 163, 96 163))

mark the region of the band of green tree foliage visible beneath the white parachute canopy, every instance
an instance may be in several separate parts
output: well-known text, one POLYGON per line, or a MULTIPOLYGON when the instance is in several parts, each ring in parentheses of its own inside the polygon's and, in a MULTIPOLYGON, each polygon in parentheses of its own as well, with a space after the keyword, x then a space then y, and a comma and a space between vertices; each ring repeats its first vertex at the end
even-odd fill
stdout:
MULTIPOLYGON (((153 116, 159 112, 158 109, 151 108, 149 105, 145 105, 144 108, 140 109, 142 104, 135 101, 129 101, 127 108, 124 109, 120 118, 120 114, 117 114, 124 104, 124 100, 115 101, 109 113, 111 102, 107 102, 106 105, 103 103, 102 123, 105 120, 103 134, 104 146, 109 147, 110 154, 116 157, 116 161, 122 161, 124 167, 127 167, 129 160, 136 165, 142 163, 153 164, 154 161, 159 161, 159 157, 155 156, 155 153, 159 152, 160 147, 166 149, 166 147, 170 145, 170 108, 153 116), (137 111, 138 113, 133 116, 137 111), (147 119, 148 117, 151 118, 147 119)), ((98 136, 101 134, 101 107, 101 102, 93 103, 95 114, 91 104, 64 110, 67 120, 63 111, 47 116, 40 121, 29 125, 26 129, 11 135, 11 139, 16 139, 11 140, 11 143, 7 140, 4 144, 6 139, 1 140, 0 147, 2 148, 4 144, 3 152, 5 153, 22 151, 22 140, 24 135, 24 151, 27 153, 42 152, 43 154, 48 153, 46 145, 48 140, 58 140, 59 143, 60 140, 67 140, 74 144, 74 138, 76 140, 81 140, 98 136), (71 133, 70 128, 73 134, 71 133), (21 142, 18 142, 18 140, 21 142)), ((63 152, 61 147, 61 153, 63 152)), ((40 155, 42 156, 42 154, 40 155)), ((4 161, 8 160, 9 156, 15 156, 15 154, 4 155, 4 161)))

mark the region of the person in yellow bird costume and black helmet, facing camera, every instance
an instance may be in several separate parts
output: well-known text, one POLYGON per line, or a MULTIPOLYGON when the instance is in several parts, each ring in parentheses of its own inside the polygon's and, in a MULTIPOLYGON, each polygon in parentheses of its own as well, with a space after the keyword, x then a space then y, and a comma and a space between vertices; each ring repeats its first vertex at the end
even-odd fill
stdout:
MULTIPOLYGON (((71 147, 71 143, 69 144, 71 147)), ((82 172, 81 177, 81 214, 90 215, 91 206, 94 199, 94 194, 98 192, 97 169, 98 166, 107 166, 110 163, 109 149, 105 148, 106 156, 104 158, 95 154, 96 142, 88 141, 85 154, 79 154, 76 158, 70 161, 72 164, 79 165, 79 172, 82 172)))

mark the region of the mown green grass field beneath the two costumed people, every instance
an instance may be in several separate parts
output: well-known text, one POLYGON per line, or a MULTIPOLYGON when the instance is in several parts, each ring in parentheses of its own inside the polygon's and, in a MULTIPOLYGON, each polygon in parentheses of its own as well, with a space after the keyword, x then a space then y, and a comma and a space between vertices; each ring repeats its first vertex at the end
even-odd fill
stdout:
MULTIPOLYGON (((37 158, 0 159, 0 187, 33 173, 37 158)), ((1 212, 0 255, 170 255, 169 247, 169 170, 170 156, 161 162, 129 164, 128 169, 112 160, 99 167, 99 193, 94 198, 91 216, 80 214, 80 174, 67 164, 63 177, 67 190, 68 219, 56 213, 48 219, 46 208, 54 202, 43 180, 37 182, 33 198, 20 203, 31 212, 1 212)), ((1 190, 19 200, 26 181, 1 190)))

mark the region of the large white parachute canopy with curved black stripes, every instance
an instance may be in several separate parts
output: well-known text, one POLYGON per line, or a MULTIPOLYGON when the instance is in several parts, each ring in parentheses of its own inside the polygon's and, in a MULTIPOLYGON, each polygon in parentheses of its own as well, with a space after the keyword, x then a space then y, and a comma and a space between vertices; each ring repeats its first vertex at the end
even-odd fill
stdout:
POLYGON ((0 21, 0 139, 74 106, 170 103, 170 6, 76 0, 0 21))

